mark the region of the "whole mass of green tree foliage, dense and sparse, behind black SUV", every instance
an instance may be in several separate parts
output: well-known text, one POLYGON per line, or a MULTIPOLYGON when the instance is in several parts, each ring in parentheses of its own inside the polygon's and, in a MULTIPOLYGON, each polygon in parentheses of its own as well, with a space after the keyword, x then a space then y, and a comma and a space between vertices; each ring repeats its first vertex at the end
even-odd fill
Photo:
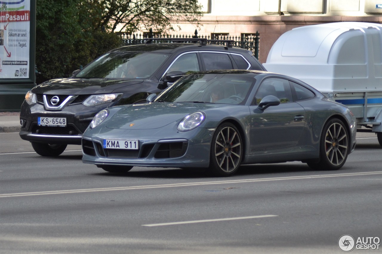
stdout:
POLYGON ((36 7, 38 84, 119 47, 114 32, 173 31, 180 19, 199 25, 202 15, 197 0, 38 0, 36 7))

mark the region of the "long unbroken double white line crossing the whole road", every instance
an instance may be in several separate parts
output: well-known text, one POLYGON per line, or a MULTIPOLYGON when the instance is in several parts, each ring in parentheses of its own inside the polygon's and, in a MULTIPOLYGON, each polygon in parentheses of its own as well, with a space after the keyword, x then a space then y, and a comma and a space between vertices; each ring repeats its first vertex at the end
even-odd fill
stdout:
POLYGON ((68 194, 68 193, 95 192, 95 191, 140 190, 140 189, 185 187, 185 186, 197 186, 197 185, 251 183, 251 182, 267 182, 267 181, 280 181, 280 180, 299 180, 299 179, 326 178, 326 177, 346 177, 346 176, 362 176, 362 175, 379 175, 379 174, 382 174, 382 171, 358 172, 358 173, 343 173, 343 174, 326 174, 326 175, 305 175, 305 176, 297 176, 297 177, 272 177, 272 178, 255 178, 255 179, 241 179, 241 180, 239 179, 239 180, 195 182, 195 183, 169 183, 169 184, 159 184, 159 185, 138 185, 138 186, 126 186, 126 187, 92 188, 92 189, 77 189, 77 190, 36 191, 36 192, 0 194, 0 198, 21 197, 21 196, 39 196, 39 195, 52 195, 52 194, 68 194))

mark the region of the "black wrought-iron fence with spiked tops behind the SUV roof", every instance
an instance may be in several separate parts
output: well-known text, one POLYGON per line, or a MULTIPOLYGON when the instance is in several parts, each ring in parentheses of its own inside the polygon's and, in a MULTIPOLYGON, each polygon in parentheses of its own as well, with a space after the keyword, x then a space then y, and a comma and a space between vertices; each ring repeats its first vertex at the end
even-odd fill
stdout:
MULTIPOLYGON (((143 34, 127 34, 127 33, 120 33, 120 37, 122 40, 123 46, 128 45, 137 45, 137 44, 143 44, 145 43, 145 38, 178 38, 178 39, 186 39, 186 38, 205 38, 207 40, 233 40, 233 47, 238 48, 245 48, 247 50, 251 50, 253 52, 253 55, 259 59, 259 40, 260 40, 260 34, 259 32, 256 32, 256 34, 251 35, 244 35, 241 37, 233 37, 233 36, 219 36, 215 35, 214 37, 211 37, 210 35, 197 35, 197 31, 195 30, 195 34, 193 35, 177 35, 177 34, 158 34, 153 33, 150 29, 150 32, 143 33, 143 34)), ((157 41, 155 43, 160 43, 163 41, 157 41)), ((225 45, 224 42, 214 42, 214 44, 219 45, 225 45)))

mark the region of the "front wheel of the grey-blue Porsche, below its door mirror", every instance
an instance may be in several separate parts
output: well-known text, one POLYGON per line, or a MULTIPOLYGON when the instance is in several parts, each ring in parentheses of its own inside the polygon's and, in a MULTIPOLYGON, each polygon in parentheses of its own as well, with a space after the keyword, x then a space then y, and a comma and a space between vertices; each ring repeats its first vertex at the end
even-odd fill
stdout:
POLYGON ((235 125, 220 125, 214 134, 210 155, 210 170, 216 176, 233 175, 240 166, 243 145, 235 125))

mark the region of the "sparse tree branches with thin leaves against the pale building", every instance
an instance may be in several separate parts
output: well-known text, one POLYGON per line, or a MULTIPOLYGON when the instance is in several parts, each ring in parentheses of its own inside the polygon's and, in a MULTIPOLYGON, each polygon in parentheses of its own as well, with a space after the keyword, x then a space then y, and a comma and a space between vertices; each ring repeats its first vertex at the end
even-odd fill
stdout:
MULTIPOLYGON (((95 15, 100 17, 94 24, 112 32, 149 30, 174 31, 172 25, 180 20, 200 25, 202 16, 197 0, 88 0, 97 4, 95 15)), ((94 16, 94 15, 93 15, 94 16)), ((180 27, 177 27, 180 29, 180 27)))

